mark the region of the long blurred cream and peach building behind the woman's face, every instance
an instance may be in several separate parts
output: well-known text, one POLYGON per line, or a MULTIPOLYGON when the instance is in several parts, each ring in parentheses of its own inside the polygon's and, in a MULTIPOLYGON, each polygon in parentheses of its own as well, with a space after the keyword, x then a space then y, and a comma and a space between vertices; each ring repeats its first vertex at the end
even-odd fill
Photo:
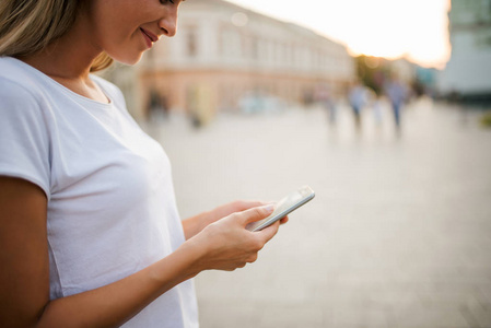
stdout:
POLYGON ((138 66, 140 107, 206 120, 215 110, 267 110, 313 101, 320 84, 343 94, 355 77, 347 49, 305 27, 222 0, 183 2, 178 32, 138 66))

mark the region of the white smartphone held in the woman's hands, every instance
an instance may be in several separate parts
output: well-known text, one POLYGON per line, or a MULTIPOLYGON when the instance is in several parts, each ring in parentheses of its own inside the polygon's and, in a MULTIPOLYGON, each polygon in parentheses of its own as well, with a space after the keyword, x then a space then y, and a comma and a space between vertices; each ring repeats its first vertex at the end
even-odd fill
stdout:
POLYGON ((314 190, 308 186, 304 186, 282 198, 274 206, 274 211, 266 219, 257 222, 252 222, 246 225, 248 231, 260 231, 278 220, 287 216, 290 212, 296 210, 301 206, 305 204, 315 197, 314 190))

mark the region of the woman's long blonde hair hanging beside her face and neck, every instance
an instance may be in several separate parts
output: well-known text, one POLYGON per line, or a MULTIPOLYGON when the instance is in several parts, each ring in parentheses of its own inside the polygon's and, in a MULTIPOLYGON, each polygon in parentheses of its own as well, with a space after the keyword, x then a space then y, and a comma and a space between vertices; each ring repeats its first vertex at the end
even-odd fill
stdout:
MULTIPOLYGON (((81 2, 86 0, 1 0, 0 56, 25 57, 46 48, 73 25, 81 2)), ((102 52, 91 71, 113 63, 102 52)))

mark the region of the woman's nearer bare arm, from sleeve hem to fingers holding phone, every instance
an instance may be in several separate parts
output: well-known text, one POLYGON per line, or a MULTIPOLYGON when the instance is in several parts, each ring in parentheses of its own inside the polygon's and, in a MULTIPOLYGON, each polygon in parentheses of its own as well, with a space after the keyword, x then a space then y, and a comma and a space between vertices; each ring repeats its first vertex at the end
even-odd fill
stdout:
POLYGON ((117 327, 176 284, 208 269, 253 262, 279 224, 250 233, 247 223, 272 209, 254 208, 208 225, 152 266, 96 290, 49 301, 47 200, 35 185, 0 177, 0 326, 117 327))

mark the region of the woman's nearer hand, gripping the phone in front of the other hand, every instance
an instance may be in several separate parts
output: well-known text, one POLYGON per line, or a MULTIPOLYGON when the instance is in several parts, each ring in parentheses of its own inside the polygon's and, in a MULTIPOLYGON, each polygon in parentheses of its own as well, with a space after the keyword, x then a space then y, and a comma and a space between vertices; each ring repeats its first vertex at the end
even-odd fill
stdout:
POLYGON ((196 269, 233 271, 254 262, 258 251, 276 235, 280 223, 276 222, 259 232, 249 232, 245 226, 267 218, 272 211, 272 204, 250 208, 235 212, 203 229, 188 241, 201 250, 196 269))

